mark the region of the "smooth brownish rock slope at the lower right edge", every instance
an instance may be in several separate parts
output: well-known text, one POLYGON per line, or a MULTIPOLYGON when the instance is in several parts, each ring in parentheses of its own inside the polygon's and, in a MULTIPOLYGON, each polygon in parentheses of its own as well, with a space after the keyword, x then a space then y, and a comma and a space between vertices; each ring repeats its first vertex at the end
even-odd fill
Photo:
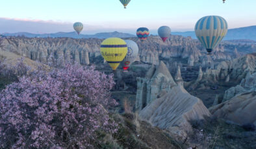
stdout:
POLYGON ((242 93, 230 100, 218 104, 210 111, 212 115, 236 124, 254 124, 256 126, 256 92, 242 93))

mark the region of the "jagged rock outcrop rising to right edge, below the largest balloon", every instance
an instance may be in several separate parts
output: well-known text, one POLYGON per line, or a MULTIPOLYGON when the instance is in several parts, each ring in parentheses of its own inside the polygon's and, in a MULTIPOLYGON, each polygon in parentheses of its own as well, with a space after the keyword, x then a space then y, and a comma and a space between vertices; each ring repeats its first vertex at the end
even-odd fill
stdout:
MULTIPOLYGON (((199 70, 198 79, 186 84, 189 90, 199 88, 200 86, 211 86, 213 84, 239 82, 246 77, 248 73, 256 72, 256 53, 247 54, 231 61, 220 62, 216 69, 206 69, 205 73, 199 70)), ((204 87, 201 89, 205 89, 204 87)))

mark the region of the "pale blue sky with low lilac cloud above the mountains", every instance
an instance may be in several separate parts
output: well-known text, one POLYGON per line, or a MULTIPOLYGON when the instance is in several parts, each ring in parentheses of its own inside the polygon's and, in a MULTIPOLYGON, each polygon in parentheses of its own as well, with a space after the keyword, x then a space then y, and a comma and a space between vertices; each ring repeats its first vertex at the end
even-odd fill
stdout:
POLYGON ((256 25, 256 0, 131 0, 127 9, 119 0, 6 0, 0 5, 0 33, 71 32, 75 21, 84 24, 82 34, 134 33, 162 25, 188 31, 209 15, 224 17, 229 29, 256 25))

